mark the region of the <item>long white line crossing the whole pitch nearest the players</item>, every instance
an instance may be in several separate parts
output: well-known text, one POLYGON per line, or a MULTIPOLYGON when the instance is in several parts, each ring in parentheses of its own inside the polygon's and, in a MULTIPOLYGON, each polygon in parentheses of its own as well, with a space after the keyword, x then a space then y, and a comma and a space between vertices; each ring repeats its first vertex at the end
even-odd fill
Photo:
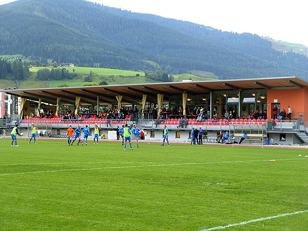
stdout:
MULTIPOLYGON (((305 159, 278 159, 277 161, 283 161, 283 160, 305 160, 305 159)), ((139 165, 139 166, 100 167, 100 168, 76 168, 76 169, 62 169, 62 170, 16 172, 16 173, 9 173, 9 174, 0 174, 0 176, 36 174, 36 173, 45 173, 45 172, 61 172, 61 171, 85 171, 85 170, 101 170, 101 169, 142 168, 142 167, 180 166, 180 165, 197 165, 197 164, 202 165, 202 164, 243 163, 243 162, 260 162, 260 161, 268 161, 268 160, 222 161, 222 162, 179 163, 179 164, 152 164, 152 165, 139 165)))

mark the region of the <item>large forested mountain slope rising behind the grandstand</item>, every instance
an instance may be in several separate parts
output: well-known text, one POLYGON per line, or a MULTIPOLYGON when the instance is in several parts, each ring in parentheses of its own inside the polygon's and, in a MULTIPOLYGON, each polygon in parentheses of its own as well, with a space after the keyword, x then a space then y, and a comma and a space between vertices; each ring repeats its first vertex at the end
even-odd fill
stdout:
POLYGON ((221 79, 308 76, 308 58, 249 33, 132 13, 82 0, 20 0, 0 6, 0 54, 57 63, 208 71, 221 79))

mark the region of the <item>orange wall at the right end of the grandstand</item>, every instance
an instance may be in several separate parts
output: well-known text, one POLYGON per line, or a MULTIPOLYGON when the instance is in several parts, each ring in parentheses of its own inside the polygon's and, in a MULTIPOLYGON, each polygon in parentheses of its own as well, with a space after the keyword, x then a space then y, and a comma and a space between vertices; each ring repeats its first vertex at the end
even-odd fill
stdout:
POLYGON ((282 109, 287 113, 287 106, 292 109, 292 117, 298 112, 305 113, 305 119, 308 119, 308 88, 294 90, 268 90, 267 91, 267 118, 272 118, 272 103, 274 99, 280 103, 282 109))

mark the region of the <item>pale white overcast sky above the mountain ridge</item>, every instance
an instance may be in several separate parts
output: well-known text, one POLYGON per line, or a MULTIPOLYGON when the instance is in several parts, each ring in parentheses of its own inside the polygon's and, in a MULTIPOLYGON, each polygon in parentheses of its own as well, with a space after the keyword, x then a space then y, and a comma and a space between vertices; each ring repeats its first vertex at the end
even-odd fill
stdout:
MULTIPOLYGON (((37 0, 39 1, 39 0, 37 0)), ((307 0, 88 0, 308 47, 307 0)), ((0 5, 13 0, 0 0, 0 5)))

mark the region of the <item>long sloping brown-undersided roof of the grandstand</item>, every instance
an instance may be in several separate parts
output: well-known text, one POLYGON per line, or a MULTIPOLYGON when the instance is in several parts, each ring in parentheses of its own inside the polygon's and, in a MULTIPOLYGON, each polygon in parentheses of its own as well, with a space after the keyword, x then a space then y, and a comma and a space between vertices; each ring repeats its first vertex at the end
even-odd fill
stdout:
POLYGON ((139 104, 143 94, 147 94, 147 102, 157 102, 157 94, 164 94, 164 101, 169 100, 173 94, 200 94, 209 92, 228 92, 238 90, 271 90, 271 89, 299 89, 308 83, 295 76, 262 78, 262 79, 236 79, 236 80, 210 80, 192 82, 171 83, 147 83, 127 85, 106 85, 89 87, 65 87, 65 88, 40 88, 40 89, 16 89, 2 90, 7 94, 29 100, 49 104, 56 104, 57 97, 61 98, 61 104, 75 104, 76 96, 81 97, 82 105, 96 105, 99 99, 100 105, 116 105, 116 95, 122 95, 122 105, 139 104))

